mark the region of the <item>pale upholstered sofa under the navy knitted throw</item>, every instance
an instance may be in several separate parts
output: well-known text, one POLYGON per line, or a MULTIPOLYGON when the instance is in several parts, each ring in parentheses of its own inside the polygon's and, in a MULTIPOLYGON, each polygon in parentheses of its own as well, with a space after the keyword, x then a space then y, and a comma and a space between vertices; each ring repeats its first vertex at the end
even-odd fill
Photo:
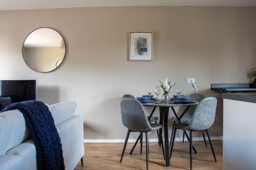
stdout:
MULTIPOLYGON (((75 102, 47 106, 60 136, 65 168, 74 169, 84 154, 83 119, 74 115, 75 102)), ((0 169, 37 169, 35 145, 18 110, 0 114, 0 169)))

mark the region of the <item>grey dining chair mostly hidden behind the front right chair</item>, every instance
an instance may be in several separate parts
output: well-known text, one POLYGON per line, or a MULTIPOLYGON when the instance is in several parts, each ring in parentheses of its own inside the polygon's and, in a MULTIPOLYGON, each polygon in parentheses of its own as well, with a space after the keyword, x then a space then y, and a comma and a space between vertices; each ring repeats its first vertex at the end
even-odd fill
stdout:
MULTIPOLYGON (((201 100, 203 100, 205 97, 203 94, 199 94, 199 93, 194 93, 190 95, 191 101, 196 101, 196 102, 200 102, 201 100)), ((181 123, 189 123, 191 121, 191 118, 193 116, 193 113, 196 109, 196 105, 195 106, 190 106, 189 109, 187 110, 187 112, 182 116, 182 118, 180 119, 181 123)), ((175 124, 176 122, 178 122, 178 119, 174 116, 172 117, 173 120, 173 124, 175 124)), ((173 138, 173 134, 174 134, 174 127, 172 129, 172 135, 170 136, 170 145, 172 144, 172 138, 173 138)), ((205 140, 205 135, 204 132, 202 131, 202 135, 203 135, 203 139, 204 139, 204 144, 205 147, 207 148, 207 143, 205 140)), ((182 137, 182 142, 184 142, 184 132, 183 132, 183 137, 182 137)), ((169 147, 170 147, 169 145, 169 147)))

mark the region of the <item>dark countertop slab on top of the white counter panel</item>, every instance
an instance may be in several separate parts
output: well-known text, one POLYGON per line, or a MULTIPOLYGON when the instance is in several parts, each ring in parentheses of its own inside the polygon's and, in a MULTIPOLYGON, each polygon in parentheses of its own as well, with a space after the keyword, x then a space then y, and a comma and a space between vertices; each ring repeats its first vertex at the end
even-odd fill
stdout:
POLYGON ((256 103, 256 93, 222 93, 223 99, 256 103))

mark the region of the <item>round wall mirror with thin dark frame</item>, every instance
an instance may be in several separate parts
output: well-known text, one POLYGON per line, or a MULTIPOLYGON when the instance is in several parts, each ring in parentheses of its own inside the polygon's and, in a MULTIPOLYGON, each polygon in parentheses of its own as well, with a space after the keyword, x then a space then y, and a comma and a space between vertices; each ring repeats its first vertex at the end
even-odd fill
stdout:
POLYGON ((66 53, 65 41, 50 28, 32 31, 23 43, 23 58, 27 65, 38 72, 56 69, 66 53))

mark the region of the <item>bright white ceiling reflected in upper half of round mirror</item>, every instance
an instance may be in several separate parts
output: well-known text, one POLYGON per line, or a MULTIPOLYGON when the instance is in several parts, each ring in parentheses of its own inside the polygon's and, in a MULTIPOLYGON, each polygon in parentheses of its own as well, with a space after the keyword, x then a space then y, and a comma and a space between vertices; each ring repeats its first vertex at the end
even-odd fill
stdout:
POLYGON ((60 47, 61 35, 49 28, 40 28, 28 35, 24 47, 60 47))

